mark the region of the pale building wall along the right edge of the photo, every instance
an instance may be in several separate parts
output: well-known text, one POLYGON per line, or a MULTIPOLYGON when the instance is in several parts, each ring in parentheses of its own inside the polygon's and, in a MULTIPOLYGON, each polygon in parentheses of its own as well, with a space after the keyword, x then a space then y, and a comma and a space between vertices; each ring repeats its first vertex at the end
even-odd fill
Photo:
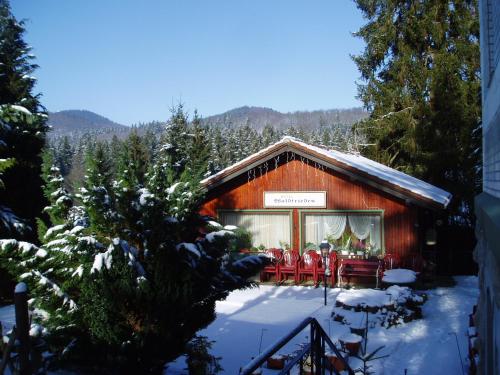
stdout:
POLYGON ((479 374, 500 374, 500 0, 480 0, 483 192, 476 197, 479 374))

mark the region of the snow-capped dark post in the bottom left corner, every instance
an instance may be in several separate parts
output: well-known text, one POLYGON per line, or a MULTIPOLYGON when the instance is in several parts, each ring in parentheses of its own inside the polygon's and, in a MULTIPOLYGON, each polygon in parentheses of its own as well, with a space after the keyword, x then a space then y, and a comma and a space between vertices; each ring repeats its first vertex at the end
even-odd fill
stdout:
POLYGON ((19 374, 30 375, 30 321, 28 316, 28 287, 25 283, 16 285, 14 291, 14 305, 16 308, 16 327, 19 339, 19 374))

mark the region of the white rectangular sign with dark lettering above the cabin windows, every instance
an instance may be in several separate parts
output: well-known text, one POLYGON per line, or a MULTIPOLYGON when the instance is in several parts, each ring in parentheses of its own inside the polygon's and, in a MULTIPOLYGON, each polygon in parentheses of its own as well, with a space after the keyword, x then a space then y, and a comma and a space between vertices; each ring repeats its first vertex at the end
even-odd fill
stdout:
POLYGON ((265 208, 326 208, 326 191, 265 191, 265 208))

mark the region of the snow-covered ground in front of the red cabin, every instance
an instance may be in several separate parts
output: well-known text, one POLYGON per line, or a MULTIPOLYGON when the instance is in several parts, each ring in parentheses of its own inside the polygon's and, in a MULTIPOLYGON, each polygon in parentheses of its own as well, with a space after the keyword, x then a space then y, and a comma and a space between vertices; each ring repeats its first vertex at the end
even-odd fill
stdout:
MULTIPOLYGON (((423 319, 369 330, 367 351, 385 345, 378 354, 388 355, 370 362, 375 374, 405 374, 405 369, 408 375, 467 373, 468 315, 479 292, 476 277, 455 279, 457 285, 454 287, 426 292, 428 300, 422 308, 423 319)), ((330 318, 339 293, 340 289, 328 290, 328 306, 325 307, 322 288, 262 285, 236 291, 217 303, 217 319, 199 334, 214 341, 211 352, 222 357, 220 363, 224 373, 238 374, 240 367, 258 355, 259 347, 265 350, 308 316, 315 317, 325 331, 330 332, 334 342, 349 332, 348 326, 330 318)), ((307 335, 306 329, 280 353, 292 353, 298 344, 307 341, 307 335)), ((352 364, 355 366, 354 362, 352 364)), ((179 364, 174 367, 178 368, 179 364)), ((167 373, 178 372, 170 367, 167 373)))

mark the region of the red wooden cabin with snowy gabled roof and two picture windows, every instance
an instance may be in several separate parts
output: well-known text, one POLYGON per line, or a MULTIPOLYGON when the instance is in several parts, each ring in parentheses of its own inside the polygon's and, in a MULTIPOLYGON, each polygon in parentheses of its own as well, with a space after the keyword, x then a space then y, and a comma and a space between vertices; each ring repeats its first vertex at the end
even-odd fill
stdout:
POLYGON ((291 137, 202 184, 202 214, 248 229, 255 247, 300 251, 328 239, 370 255, 421 253, 435 212, 451 199, 444 190, 358 154, 291 137))

